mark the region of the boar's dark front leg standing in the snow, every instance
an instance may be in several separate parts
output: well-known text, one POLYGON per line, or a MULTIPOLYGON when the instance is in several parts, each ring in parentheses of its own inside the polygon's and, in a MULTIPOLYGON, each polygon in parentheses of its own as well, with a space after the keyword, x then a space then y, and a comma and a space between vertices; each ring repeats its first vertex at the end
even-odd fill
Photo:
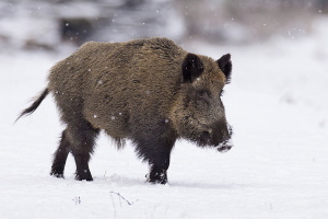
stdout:
POLYGON ((136 142, 139 157, 148 161, 150 165, 147 182, 166 184, 169 157, 175 139, 163 138, 163 136, 161 138, 154 135, 144 139, 138 139, 136 142))

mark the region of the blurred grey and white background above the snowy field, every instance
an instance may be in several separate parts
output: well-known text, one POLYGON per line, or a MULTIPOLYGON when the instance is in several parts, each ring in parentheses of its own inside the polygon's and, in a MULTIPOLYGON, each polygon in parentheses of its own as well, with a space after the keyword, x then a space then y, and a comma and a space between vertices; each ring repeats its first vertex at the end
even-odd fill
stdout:
POLYGON ((301 38, 328 0, 1 0, 0 53, 165 36, 245 45, 301 38))

